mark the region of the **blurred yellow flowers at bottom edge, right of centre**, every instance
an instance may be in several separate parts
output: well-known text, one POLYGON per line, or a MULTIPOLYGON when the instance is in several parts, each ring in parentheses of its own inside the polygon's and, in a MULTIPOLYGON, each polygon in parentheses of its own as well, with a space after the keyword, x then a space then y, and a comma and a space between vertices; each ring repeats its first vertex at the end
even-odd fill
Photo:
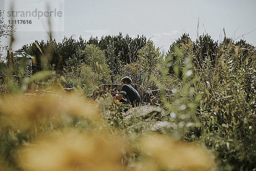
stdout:
POLYGON ((148 161, 154 162, 155 171, 208 171, 215 166, 214 159, 203 148, 175 142, 169 136, 144 136, 140 148, 148 158, 144 165, 148 165, 148 161))

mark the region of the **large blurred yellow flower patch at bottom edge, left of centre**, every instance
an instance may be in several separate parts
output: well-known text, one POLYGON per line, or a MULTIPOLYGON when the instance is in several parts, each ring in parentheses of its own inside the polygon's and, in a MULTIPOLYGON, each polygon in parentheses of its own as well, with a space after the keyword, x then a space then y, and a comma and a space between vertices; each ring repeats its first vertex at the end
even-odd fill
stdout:
POLYGON ((121 171, 122 141, 108 134, 55 133, 38 145, 25 147, 20 165, 26 171, 121 171))

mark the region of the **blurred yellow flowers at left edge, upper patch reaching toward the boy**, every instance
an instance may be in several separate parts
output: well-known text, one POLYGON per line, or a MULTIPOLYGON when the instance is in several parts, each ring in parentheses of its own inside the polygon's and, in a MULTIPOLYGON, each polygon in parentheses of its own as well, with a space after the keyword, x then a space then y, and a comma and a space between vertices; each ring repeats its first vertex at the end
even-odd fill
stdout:
POLYGON ((62 122, 61 116, 84 116, 92 121, 99 119, 99 111, 80 96, 65 94, 32 94, 25 96, 3 96, 0 109, 18 129, 45 124, 50 119, 62 122))

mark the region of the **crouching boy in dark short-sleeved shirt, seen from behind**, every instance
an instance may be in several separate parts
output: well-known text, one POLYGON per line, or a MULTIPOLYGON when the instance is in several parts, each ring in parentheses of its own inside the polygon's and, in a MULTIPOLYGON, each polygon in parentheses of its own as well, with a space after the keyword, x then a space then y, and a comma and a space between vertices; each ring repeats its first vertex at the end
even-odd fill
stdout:
POLYGON ((121 79, 122 84, 122 90, 120 91, 120 94, 112 93, 112 101, 119 100, 127 101, 128 103, 131 103, 132 107, 140 106, 141 98, 140 94, 135 90, 133 87, 131 87, 131 78, 130 77, 124 77, 121 79))

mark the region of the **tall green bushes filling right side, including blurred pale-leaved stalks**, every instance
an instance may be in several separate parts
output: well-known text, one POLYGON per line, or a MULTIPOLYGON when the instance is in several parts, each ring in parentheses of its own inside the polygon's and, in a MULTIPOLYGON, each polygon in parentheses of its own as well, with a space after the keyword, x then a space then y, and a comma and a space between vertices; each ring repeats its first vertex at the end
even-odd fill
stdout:
POLYGON ((171 45, 161 69, 162 94, 173 93, 162 96, 164 106, 182 123, 185 139, 198 136, 215 152, 218 170, 255 169, 255 55, 255 47, 243 40, 224 38, 218 46, 209 35, 195 43, 183 35, 171 45), (187 123, 201 126, 188 129, 187 123))

